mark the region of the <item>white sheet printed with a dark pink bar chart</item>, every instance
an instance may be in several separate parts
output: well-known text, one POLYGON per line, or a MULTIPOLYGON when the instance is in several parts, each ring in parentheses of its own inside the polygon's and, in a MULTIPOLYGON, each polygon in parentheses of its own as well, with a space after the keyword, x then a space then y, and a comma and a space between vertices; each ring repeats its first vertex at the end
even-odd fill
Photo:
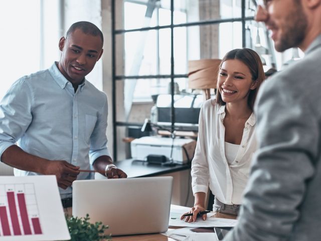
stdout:
POLYGON ((55 176, 0 177, 0 241, 69 239, 55 176))

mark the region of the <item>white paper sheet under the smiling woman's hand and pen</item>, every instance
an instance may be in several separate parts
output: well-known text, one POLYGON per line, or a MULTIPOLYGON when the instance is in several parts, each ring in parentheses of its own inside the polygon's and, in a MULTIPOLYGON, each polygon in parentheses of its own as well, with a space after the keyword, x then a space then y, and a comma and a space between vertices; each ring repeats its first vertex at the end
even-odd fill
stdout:
POLYGON ((211 217, 213 213, 207 213, 206 220, 202 220, 200 217, 195 222, 185 222, 181 220, 181 215, 190 210, 189 207, 182 207, 177 205, 171 205, 170 222, 169 226, 179 227, 234 227, 237 224, 237 220, 228 218, 211 217))

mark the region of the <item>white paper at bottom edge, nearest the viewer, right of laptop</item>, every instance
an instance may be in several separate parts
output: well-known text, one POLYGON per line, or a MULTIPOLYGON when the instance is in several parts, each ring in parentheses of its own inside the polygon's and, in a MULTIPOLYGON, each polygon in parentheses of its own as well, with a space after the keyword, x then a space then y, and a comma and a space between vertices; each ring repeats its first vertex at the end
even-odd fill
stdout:
POLYGON ((217 240, 214 232, 193 232, 193 227, 178 228, 162 233, 177 241, 215 241, 217 240))

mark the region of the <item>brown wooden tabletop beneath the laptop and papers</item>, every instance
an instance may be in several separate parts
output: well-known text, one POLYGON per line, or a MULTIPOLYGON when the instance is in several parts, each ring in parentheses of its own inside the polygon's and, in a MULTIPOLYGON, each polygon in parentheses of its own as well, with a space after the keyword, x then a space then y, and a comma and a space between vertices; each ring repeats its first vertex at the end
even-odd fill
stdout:
MULTIPOLYGON (((214 217, 236 219, 236 216, 234 215, 228 215, 223 213, 215 213, 214 217)), ((180 227, 173 227, 173 226, 169 227, 169 229, 174 229, 174 228, 180 228, 180 227)), ((175 241, 175 239, 164 236, 160 233, 114 236, 112 237, 112 240, 113 241, 175 241)))

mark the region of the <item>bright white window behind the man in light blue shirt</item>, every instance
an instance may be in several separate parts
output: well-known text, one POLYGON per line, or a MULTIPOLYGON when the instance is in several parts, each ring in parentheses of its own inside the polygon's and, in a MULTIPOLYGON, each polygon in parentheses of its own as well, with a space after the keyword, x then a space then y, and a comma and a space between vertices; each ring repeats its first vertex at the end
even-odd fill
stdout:
POLYGON ((14 81, 48 68, 58 59, 58 2, 10 0, 0 2, 2 81, 0 99, 14 81))

